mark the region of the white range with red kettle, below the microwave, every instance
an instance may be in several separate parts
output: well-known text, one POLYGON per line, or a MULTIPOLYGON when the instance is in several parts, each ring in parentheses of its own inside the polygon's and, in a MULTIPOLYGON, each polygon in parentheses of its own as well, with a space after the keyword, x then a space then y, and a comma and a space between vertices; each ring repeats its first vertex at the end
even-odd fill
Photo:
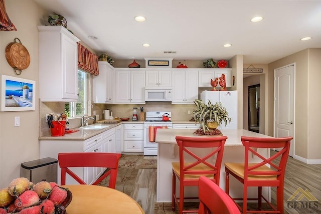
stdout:
POLYGON ((144 155, 157 155, 157 143, 149 141, 149 126, 172 128, 172 112, 169 111, 147 111, 144 122, 144 155), (168 120, 163 120, 167 116, 168 120))

